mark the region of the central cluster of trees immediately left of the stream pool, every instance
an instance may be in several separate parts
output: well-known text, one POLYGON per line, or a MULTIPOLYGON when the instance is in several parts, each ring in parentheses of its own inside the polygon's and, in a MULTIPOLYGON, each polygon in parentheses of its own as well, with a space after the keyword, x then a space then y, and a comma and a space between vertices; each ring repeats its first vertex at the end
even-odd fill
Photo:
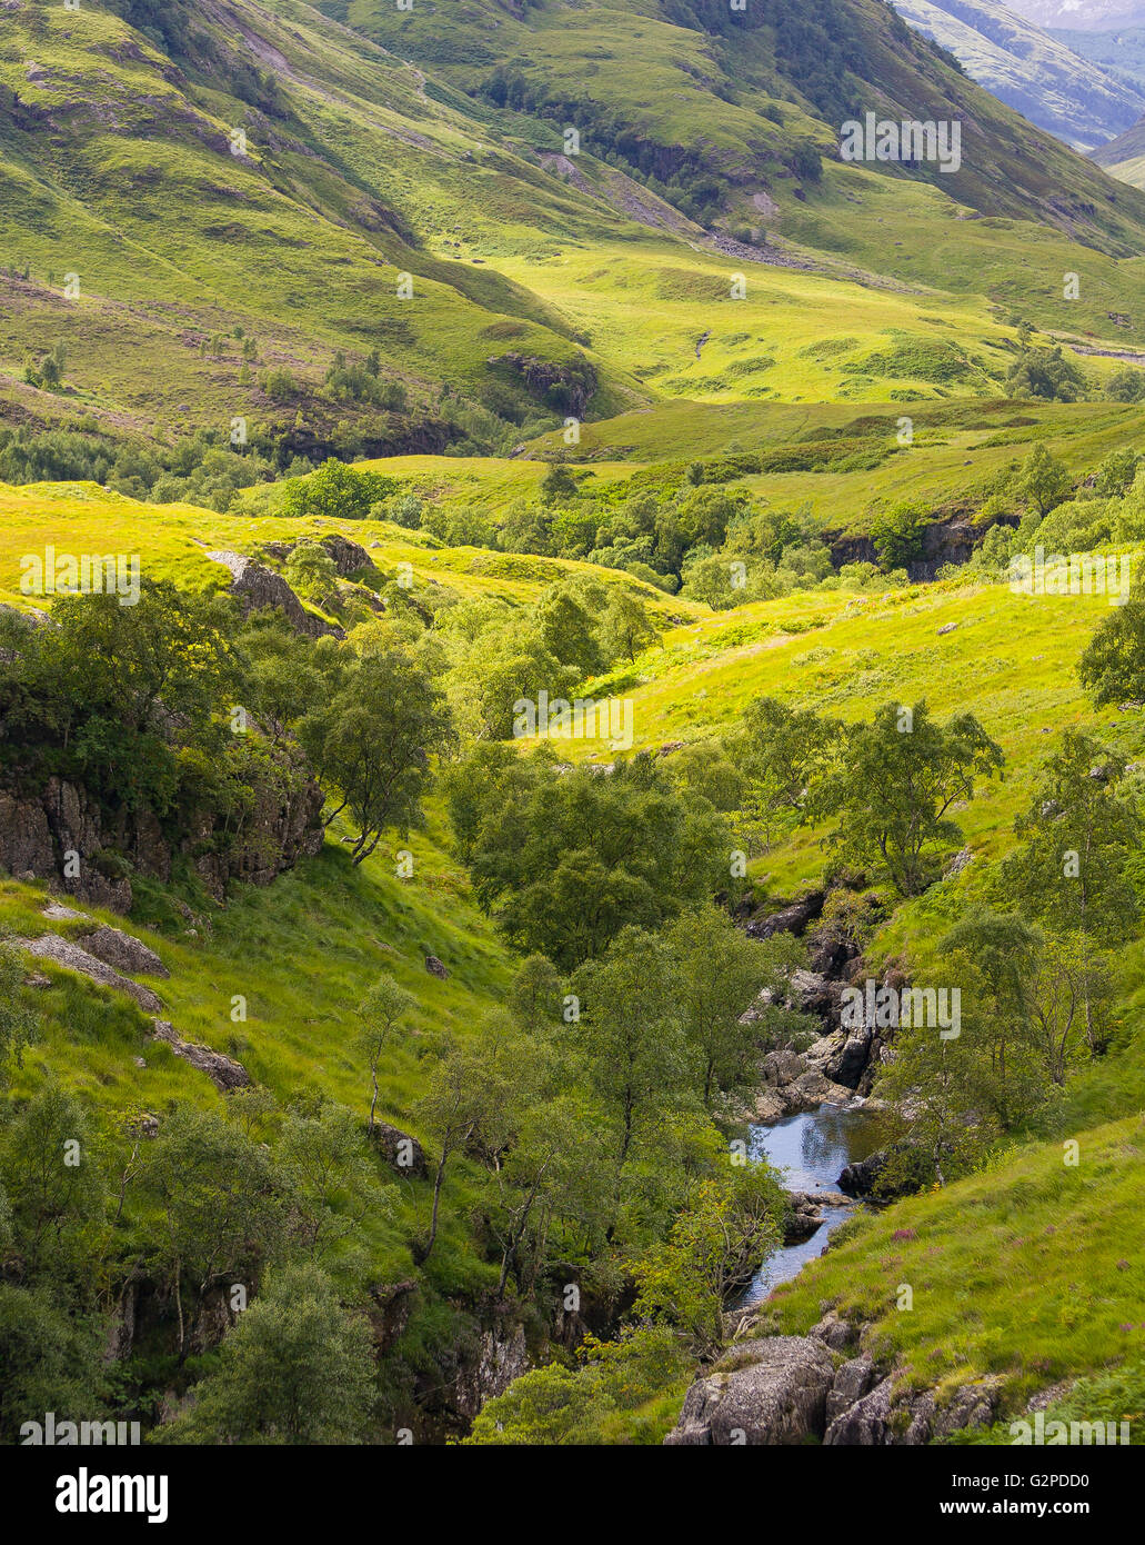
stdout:
POLYGON ((784 1199, 765 1166, 728 1163, 713 1117, 752 1082, 768 1021, 742 1017, 790 949, 701 904, 659 933, 619 927, 568 975, 529 955, 506 1007, 441 1049, 418 1106, 438 1153, 421 1264, 451 1176, 468 1162, 472 1187, 477 1162, 495 1301, 554 1302, 569 1270, 617 1296, 630 1276, 639 1319, 721 1346, 722 1309, 778 1242, 784 1199), (702 1256, 681 1234, 693 1225, 702 1256))

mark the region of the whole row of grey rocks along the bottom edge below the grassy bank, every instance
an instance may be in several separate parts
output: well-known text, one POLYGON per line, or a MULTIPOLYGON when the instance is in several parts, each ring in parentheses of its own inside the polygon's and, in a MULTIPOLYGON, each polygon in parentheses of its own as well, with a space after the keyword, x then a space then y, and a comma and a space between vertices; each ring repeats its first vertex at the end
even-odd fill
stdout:
POLYGON ((855 1327, 830 1312, 806 1336, 738 1341, 684 1397, 671 1446, 713 1443, 790 1446, 914 1446, 964 1428, 988 1426, 1000 1378, 954 1390, 912 1389, 870 1353, 843 1353, 855 1327))

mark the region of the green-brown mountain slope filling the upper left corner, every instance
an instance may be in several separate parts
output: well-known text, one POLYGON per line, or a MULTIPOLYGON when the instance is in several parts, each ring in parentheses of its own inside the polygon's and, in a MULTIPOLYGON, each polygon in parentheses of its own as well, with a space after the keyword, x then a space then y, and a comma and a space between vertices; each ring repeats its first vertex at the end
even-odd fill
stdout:
MULTIPOLYGON (((474 400, 494 389, 486 360, 506 351, 491 326, 591 396, 596 371, 559 317, 458 243, 449 260, 427 250, 407 221, 438 235, 432 204, 455 209, 477 184, 485 219, 506 213, 506 188, 531 188, 534 219, 585 230, 576 198, 477 148, 474 125, 429 104, 415 71, 304 11, 287 28, 242 0, 174 6, 156 40, 94 9, 6 12, 5 355, 63 335, 88 386, 77 406, 90 394, 134 425, 222 423, 256 406, 290 439, 296 402, 242 389, 235 328, 258 340, 255 369, 312 388, 336 348, 378 349, 409 411, 363 416, 327 394, 299 448, 347 416, 369 417, 378 448, 458 437, 437 413, 440 383, 474 400), (415 185, 431 207, 410 207, 415 185)), ((502 374, 498 397, 526 413, 528 389, 502 374)))

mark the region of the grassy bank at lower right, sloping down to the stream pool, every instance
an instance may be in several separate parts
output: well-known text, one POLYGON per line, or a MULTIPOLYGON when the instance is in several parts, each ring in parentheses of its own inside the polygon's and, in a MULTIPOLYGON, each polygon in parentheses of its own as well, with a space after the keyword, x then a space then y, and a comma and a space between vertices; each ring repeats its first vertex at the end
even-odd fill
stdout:
MULTIPOLYGON (((1140 1057, 1140 1048, 1137 1055, 1140 1057)), ((864 1219, 768 1301, 772 1327, 804 1332, 827 1304, 875 1323, 915 1386, 1006 1378, 1017 1411, 1035 1389, 1140 1357, 1145 1123, 1139 1114, 1031 1145, 938 1194, 864 1219), (900 1284, 914 1309, 897 1309, 900 1284)), ((1130 1414, 1133 1415, 1133 1414, 1130 1414)))

